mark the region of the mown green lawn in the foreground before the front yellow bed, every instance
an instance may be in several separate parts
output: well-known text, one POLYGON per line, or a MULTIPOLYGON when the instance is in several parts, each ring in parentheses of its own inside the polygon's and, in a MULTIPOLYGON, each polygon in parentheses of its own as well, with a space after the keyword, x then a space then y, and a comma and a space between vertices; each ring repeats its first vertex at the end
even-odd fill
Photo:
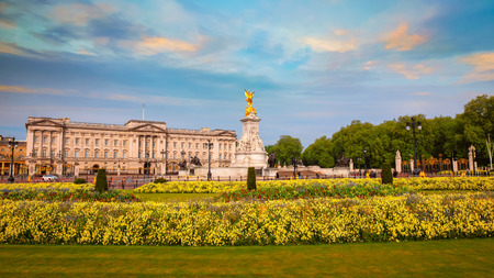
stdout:
POLYGON ((1 277, 493 277, 494 238, 299 246, 0 245, 1 277))

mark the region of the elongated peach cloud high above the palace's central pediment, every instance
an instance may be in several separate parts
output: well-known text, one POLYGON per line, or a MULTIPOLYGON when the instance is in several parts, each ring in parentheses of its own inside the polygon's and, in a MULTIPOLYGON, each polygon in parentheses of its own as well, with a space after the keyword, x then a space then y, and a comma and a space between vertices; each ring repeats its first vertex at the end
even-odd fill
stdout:
POLYGON ((191 44, 180 40, 172 40, 167 37, 145 37, 139 42, 121 41, 121 45, 126 48, 132 48, 139 55, 156 55, 162 52, 197 52, 200 48, 200 43, 191 44))

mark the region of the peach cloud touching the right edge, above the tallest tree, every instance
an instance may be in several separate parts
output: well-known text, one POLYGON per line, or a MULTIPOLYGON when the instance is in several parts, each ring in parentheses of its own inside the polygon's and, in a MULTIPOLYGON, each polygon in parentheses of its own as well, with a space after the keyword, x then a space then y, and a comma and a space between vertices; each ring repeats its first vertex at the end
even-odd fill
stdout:
POLYGON ((494 80, 494 53, 472 54, 460 62, 473 66, 473 71, 463 76, 460 82, 494 80))

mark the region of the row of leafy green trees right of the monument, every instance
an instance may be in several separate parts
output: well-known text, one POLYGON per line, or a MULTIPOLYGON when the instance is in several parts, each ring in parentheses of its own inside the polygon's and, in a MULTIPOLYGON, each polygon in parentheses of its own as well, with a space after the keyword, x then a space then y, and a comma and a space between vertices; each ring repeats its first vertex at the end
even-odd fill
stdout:
POLYGON ((474 145, 479 151, 479 165, 487 164, 487 134, 494 137, 494 96, 479 96, 464 105, 461 114, 451 116, 436 116, 427 119, 424 114, 403 115, 398 119, 385 121, 374 125, 353 120, 341 127, 332 137, 322 136, 307 146, 302 153, 299 138, 282 135, 274 145, 267 146, 270 154, 277 153, 278 160, 290 164, 292 157, 300 157, 304 165, 318 165, 323 168, 335 166, 335 162, 344 152, 346 157, 352 158, 357 166, 363 165, 363 148, 367 149, 369 167, 381 167, 383 163, 394 165, 396 151, 402 158, 408 160, 414 152, 413 131, 407 131, 406 123, 419 121, 422 130, 415 130, 417 156, 429 158, 451 157, 457 151, 458 158, 468 158, 468 148, 474 145))

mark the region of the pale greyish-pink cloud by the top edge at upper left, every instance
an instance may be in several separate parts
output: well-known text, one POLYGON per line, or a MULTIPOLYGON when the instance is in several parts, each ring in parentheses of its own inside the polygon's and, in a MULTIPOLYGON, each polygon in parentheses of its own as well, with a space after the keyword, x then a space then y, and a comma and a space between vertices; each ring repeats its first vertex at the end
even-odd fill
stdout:
POLYGON ((94 5, 72 3, 55 7, 48 16, 61 24, 85 26, 90 20, 102 19, 114 10, 112 5, 105 3, 94 5))

